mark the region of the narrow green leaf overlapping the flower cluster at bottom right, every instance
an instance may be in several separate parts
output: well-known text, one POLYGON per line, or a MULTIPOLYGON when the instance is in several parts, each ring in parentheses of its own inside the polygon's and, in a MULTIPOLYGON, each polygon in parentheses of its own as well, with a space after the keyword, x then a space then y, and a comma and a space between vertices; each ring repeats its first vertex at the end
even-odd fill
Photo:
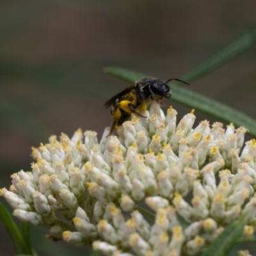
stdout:
POLYGON ((226 256, 237 243, 237 239, 243 232, 247 216, 244 214, 239 220, 228 225, 227 228, 218 236, 211 245, 204 250, 202 256, 226 256))

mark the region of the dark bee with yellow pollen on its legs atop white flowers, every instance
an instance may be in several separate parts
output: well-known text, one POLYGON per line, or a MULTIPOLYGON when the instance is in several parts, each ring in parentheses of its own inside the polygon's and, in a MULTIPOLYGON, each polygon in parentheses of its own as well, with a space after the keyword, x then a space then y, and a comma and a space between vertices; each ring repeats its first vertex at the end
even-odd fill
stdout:
POLYGON ((147 106, 153 100, 159 103, 164 98, 170 98, 172 92, 168 82, 176 80, 185 84, 189 84, 177 78, 168 79, 167 81, 155 78, 143 78, 140 81, 131 84, 131 86, 117 93, 109 99, 104 106, 111 108, 112 125, 109 135, 113 133, 125 121, 129 120, 131 114, 147 117, 141 113, 145 113, 147 106))

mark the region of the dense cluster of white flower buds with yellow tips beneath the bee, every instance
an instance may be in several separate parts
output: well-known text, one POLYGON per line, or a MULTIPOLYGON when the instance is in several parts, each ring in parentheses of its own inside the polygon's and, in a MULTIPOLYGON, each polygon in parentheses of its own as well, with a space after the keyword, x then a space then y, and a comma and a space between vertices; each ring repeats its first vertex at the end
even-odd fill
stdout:
POLYGON ((207 120, 193 129, 193 111, 177 124, 177 111, 164 115, 156 103, 148 114, 118 137, 106 129, 99 143, 96 132, 78 130, 33 148, 32 172, 14 173, 1 189, 13 214, 109 256, 195 255, 245 211, 243 236, 252 236, 256 141, 241 149, 246 129, 207 120), (141 202, 156 212, 152 223, 141 202))

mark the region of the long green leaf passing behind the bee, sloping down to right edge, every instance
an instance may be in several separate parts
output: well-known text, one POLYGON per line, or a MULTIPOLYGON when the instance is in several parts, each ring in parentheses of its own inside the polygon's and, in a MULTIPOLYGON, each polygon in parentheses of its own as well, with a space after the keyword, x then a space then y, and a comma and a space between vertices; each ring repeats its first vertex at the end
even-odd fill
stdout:
MULTIPOLYGON (((104 68, 104 72, 111 76, 118 77, 129 83, 141 79, 142 77, 150 77, 133 70, 119 67, 104 68)), ((250 116, 231 108, 217 100, 213 100, 200 93, 192 92, 186 88, 173 84, 171 100, 179 102, 189 108, 195 108, 198 111, 214 116, 224 122, 232 122, 236 126, 244 126, 249 130, 249 134, 256 136, 256 121, 250 116)))

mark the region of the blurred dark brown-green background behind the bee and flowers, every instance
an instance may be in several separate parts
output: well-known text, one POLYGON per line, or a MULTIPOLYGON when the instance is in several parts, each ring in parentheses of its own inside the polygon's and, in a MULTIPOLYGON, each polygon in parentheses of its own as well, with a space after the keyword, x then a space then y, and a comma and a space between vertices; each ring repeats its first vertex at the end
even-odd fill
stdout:
MULTIPOLYGON (((255 13, 252 0, 0 1, 0 187, 30 170, 31 146, 51 134, 81 127, 101 136, 111 122, 104 102, 127 86, 102 68, 181 77, 255 26, 255 13)), ((255 70, 254 47, 188 89, 256 119, 255 70)), ((179 118, 190 111, 171 104, 179 118)), ((195 114, 196 124, 215 121, 195 114)), ((42 228, 32 232, 39 255, 85 252, 46 241, 42 228)), ((14 255, 2 223, 0 236, 1 255, 14 255)))

